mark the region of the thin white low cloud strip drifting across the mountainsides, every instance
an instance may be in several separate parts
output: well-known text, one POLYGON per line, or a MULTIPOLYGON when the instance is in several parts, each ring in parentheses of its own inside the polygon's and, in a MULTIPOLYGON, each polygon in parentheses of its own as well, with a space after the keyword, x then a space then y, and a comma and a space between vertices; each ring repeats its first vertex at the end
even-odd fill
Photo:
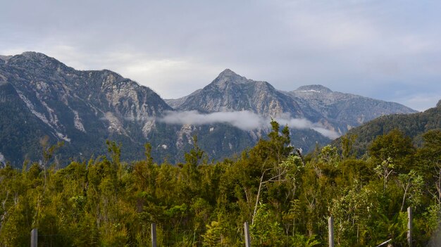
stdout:
MULTIPOLYGON (((313 129, 330 139, 340 137, 340 134, 330 129, 325 129, 319 123, 313 123, 304 118, 290 118, 289 114, 284 114, 280 118, 275 118, 280 125, 287 125, 292 129, 313 129)), ((167 112, 159 121, 174 125, 210 125, 225 123, 242 130, 265 129, 271 127, 271 119, 265 118, 249 110, 218 112, 202 114, 197 110, 170 111, 167 112)))

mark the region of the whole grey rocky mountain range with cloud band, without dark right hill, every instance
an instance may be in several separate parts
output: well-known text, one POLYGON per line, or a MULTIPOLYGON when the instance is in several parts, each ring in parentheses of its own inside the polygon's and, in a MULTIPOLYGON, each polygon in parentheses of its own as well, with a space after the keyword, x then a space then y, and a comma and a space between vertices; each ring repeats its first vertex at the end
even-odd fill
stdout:
POLYGON ((65 158, 104 154, 110 139, 125 160, 142 158, 149 142, 154 159, 177 163, 194 135, 213 159, 252 146, 268 132, 254 119, 280 120, 291 127, 292 145, 308 151, 381 115, 415 112, 321 85, 280 91, 229 69, 203 89, 163 100, 110 70, 75 70, 36 52, 0 56, 0 162, 13 165, 39 160, 44 136, 49 144, 64 141, 57 153, 65 158))

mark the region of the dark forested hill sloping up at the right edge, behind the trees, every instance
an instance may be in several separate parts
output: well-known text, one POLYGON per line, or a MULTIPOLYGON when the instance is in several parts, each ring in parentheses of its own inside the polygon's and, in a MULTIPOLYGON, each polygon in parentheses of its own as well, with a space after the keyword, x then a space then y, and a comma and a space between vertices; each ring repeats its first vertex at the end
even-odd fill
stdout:
MULTIPOLYGON (((441 100, 435 108, 430 108, 422 113, 392 114, 376 118, 364 125, 349 130, 347 135, 356 136, 354 151, 362 154, 375 137, 387 134, 392 129, 399 129, 406 136, 413 139, 416 146, 422 144, 422 134, 430 129, 441 129, 441 100)), ((341 138, 335 139, 333 144, 339 146, 341 138)))

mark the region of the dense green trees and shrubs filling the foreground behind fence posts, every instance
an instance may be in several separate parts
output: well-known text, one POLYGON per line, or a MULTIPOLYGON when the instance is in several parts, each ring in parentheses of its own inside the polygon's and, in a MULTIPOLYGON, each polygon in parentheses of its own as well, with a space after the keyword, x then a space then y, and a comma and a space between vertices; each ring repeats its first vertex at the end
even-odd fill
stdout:
POLYGON ((37 227, 42 246, 327 246, 328 216, 337 246, 406 244, 406 208, 414 210, 415 246, 426 246, 440 224, 441 132, 414 147, 393 130, 375 138, 362 158, 354 139, 342 150, 316 148, 299 156, 287 128, 241 156, 209 163, 194 139, 185 163, 120 161, 108 155, 57 169, 60 145, 42 141, 42 162, 0 170, 0 246, 29 246, 37 227), (294 154, 293 154, 294 153, 294 154), (341 153, 341 154, 340 154, 341 153))

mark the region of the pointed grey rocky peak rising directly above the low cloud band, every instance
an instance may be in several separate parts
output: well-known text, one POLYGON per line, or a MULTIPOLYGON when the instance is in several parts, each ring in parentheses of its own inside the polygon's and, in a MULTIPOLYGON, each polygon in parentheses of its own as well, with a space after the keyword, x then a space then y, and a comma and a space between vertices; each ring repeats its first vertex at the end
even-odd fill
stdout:
POLYGON ((229 69, 221 72, 203 89, 166 102, 177 110, 198 110, 201 113, 251 110, 271 118, 282 113, 304 118, 302 109, 292 97, 276 90, 268 82, 249 80, 229 69))

